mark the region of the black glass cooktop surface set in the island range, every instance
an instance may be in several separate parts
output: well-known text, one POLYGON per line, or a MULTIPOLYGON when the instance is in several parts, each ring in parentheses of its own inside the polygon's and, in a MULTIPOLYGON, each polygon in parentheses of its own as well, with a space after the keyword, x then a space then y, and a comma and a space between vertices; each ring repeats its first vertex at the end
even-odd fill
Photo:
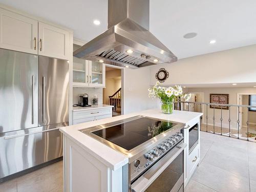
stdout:
POLYGON ((142 117, 92 133, 130 151, 175 125, 173 122, 142 117))

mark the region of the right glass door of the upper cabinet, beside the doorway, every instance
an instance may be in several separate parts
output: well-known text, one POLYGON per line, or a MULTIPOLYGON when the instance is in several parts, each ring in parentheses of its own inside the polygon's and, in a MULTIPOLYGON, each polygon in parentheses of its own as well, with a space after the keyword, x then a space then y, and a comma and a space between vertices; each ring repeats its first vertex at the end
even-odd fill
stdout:
POLYGON ((105 64, 89 61, 89 86, 105 87, 105 64))

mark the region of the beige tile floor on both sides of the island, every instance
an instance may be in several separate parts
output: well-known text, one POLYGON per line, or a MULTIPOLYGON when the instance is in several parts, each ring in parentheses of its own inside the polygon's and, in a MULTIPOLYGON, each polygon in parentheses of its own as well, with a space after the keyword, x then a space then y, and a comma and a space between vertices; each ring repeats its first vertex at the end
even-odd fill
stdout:
MULTIPOLYGON (((63 191, 62 166, 60 161, 3 183, 0 191, 63 191)), ((185 192, 216 191, 256 192, 256 143, 201 132, 201 161, 185 192)))

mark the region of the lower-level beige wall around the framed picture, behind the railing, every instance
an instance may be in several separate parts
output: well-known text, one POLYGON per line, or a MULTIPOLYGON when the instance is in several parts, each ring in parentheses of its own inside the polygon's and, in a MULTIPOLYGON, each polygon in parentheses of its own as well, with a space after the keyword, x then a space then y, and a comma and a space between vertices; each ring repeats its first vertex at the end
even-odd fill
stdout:
MULTIPOLYGON (((204 102, 210 102, 210 94, 229 94, 229 104, 238 103, 238 94, 239 93, 256 93, 256 88, 188 88, 187 93, 204 93, 204 102)), ((206 123, 206 106, 204 106, 204 117, 203 123, 206 123)), ((213 124, 213 112, 214 109, 209 108, 208 106, 208 123, 213 124)), ((236 107, 231 107, 230 109, 230 119, 231 119, 231 129, 237 129, 237 116, 238 111, 236 107)), ((215 122, 217 126, 220 126, 221 110, 215 109, 215 122)), ((222 110, 223 118, 223 127, 228 127, 229 111, 222 110)))

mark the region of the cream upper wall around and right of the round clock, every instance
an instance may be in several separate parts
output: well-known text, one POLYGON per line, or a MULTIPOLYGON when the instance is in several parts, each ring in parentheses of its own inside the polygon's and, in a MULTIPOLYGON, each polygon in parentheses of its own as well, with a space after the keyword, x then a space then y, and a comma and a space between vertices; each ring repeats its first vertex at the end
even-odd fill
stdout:
POLYGON ((160 68, 169 72, 166 85, 256 82, 255 53, 256 45, 252 45, 152 66, 151 84, 160 68))

